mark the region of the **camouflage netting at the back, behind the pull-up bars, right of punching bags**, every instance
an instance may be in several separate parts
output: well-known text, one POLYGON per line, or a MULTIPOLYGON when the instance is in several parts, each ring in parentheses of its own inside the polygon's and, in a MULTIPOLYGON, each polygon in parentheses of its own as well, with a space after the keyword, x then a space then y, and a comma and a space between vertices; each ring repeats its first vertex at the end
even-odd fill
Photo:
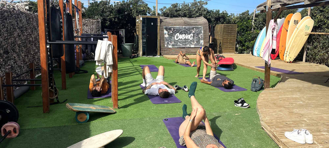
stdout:
MULTIPOLYGON (((73 19, 73 30, 75 26, 75 19, 73 19)), ((100 19, 82 19, 82 33, 83 34, 100 34, 101 33, 101 20, 100 19)))

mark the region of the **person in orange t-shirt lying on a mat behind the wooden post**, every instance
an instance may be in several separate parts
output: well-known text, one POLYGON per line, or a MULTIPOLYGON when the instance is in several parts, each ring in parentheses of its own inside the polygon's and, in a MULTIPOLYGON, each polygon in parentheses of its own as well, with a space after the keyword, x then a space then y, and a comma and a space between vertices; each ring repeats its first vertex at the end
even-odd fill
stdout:
POLYGON ((99 75, 97 75, 97 78, 95 79, 94 74, 90 77, 89 91, 93 97, 99 97, 101 94, 105 94, 110 87, 108 79, 104 75, 100 79, 99 75))

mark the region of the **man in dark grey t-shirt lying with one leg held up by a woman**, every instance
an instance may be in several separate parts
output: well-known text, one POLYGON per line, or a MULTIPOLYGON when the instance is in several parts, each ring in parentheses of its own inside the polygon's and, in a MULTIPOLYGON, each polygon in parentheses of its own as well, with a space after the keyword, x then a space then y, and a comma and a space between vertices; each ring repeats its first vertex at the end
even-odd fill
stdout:
MULTIPOLYGON (((216 62, 215 59, 210 59, 210 61, 212 63, 216 62)), ((204 83, 204 84, 209 84, 209 85, 215 86, 215 87, 224 87, 225 89, 232 89, 232 87, 233 87, 234 81, 225 76, 218 74, 216 72, 216 68, 211 67, 209 77, 210 77, 209 78, 210 82, 204 81, 203 79, 200 80, 200 82, 204 83)))

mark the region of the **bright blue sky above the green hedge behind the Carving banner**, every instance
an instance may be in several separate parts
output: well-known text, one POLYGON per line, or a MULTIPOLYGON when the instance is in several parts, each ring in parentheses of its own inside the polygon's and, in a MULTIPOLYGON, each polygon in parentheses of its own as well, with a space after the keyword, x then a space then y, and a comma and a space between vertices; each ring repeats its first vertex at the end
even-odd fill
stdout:
MULTIPOLYGON (((156 2, 156 0, 146 0, 149 2, 156 2)), ((189 2, 193 2, 193 0, 158 0, 158 3, 183 3, 185 1, 185 3, 189 3, 189 2)), ((205 7, 207 7, 208 9, 219 9, 220 11, 224 11, 226 10, 228 13, 241 13, 244 12, 246 10, 249 10, 250 12, 253 12, 254 9, 256 9, 256 7, 265 2, 266 0, 210 0, 207 1, 208 5, 206 5, 205 7)), ((153 6, 155 6, 154 3, 149 3, 146 2, 148 4, 148 6, 150 8, 153 9, 153 6)), ((170 5, 164 5, 164 4, 158 4, 158 12, 159 9, 162 7, 170 7, 170 5)))

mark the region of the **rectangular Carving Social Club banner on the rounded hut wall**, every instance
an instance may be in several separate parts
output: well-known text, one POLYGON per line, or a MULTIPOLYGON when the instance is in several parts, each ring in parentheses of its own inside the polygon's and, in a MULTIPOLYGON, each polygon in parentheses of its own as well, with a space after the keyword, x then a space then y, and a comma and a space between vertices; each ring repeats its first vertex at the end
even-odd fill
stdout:
POLYGON ((202 26, 164 26, 164 46, 166 48, 202 47, 202 26))

